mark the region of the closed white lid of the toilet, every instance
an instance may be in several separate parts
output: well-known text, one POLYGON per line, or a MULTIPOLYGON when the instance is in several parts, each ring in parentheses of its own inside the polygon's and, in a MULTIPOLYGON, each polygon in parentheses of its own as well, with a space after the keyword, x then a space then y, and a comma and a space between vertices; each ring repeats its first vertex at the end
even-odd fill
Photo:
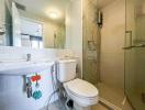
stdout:
POLYGON ((85 81, 82 79, 74 79, 66 84, 67 88, 81 97, 96 97, 98 96, 98 89, 90 82, 85 81))

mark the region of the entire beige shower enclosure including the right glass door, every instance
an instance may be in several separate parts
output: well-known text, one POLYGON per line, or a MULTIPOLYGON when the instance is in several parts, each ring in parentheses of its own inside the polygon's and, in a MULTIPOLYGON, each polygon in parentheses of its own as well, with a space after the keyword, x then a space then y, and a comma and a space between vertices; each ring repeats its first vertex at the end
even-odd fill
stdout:
POLYGON ((145 110, 145 0, 110 1, 100 6, 100 29, 99 4, 83 0, 83 79, 98 86, 108 106, 123 109, 127 97, 135 110, 145 110))

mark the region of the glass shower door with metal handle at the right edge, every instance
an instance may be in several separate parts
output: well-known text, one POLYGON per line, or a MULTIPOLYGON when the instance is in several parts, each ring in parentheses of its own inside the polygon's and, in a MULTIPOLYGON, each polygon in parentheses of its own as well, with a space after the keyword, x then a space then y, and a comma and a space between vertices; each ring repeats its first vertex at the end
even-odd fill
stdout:
POLYGON ((126 0, 125 94, 145 110, 145 0, 126 0))

